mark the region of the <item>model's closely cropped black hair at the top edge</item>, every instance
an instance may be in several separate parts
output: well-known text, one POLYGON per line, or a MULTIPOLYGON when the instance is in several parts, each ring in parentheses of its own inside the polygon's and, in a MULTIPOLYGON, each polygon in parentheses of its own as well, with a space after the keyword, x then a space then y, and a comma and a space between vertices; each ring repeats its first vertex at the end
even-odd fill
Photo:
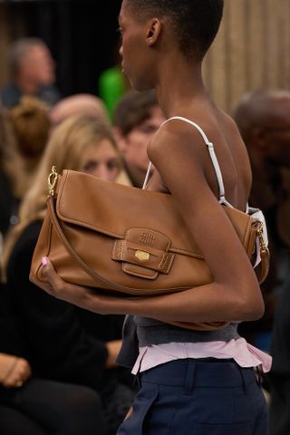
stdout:
POLYGON ((202 59, 218 33, 224 0, 128 0, 127 5, 140 19, 166 16, 183 53, 202 59))

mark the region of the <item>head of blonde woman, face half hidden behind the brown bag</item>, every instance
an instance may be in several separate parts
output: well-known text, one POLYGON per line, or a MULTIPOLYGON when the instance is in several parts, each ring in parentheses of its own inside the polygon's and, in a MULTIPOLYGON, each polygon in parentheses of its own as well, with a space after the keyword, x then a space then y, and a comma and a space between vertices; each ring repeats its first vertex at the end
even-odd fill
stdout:
POLYGON ((33 186, 25 195, 19 211, 20 225, 15 228, 14 234, 30 222, 43 219, 47 177, 53 165, 60 173, 63 169, 81 170, 113 181, 120 173, 121 159, 111 131, 102 121, 86 115, 73 116, 63 121, 53 131, 33 186))

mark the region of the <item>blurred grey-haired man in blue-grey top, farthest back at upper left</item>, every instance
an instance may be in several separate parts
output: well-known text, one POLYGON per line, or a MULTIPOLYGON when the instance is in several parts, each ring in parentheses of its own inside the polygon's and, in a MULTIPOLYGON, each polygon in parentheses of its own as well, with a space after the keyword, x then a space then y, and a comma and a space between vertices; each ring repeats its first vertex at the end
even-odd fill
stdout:
POLYGON ((6 107, 19 104, 23 95, 33 95, 53 106, 60 99, 54 86, 55 63, 41 39, 23 38, 15 41, 9 53, 11 82, 0 92, 6 107))

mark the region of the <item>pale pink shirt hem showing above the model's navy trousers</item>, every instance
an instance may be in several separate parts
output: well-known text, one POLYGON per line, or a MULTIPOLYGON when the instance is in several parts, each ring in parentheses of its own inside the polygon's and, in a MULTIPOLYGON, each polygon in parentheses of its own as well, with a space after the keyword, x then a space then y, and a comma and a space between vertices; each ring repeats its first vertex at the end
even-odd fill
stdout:
POLYGON ((262 366, 263 372, 271 369, 272 357, 247 343, 244 338, 229 342, 165 343, 140 347, 133 374, 144 372, 165 362, 185 358, 232 358, 240 367, 262 366))

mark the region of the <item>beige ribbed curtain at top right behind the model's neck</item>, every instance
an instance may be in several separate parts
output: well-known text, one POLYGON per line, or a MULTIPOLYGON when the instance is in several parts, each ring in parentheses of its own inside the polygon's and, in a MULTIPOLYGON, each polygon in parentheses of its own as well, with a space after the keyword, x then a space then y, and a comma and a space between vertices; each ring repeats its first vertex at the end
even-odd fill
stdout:
POLYGON ((214 100, 231 112, 244 92, 290 88, 290 0, 225 0, 204 65, 214 100))

